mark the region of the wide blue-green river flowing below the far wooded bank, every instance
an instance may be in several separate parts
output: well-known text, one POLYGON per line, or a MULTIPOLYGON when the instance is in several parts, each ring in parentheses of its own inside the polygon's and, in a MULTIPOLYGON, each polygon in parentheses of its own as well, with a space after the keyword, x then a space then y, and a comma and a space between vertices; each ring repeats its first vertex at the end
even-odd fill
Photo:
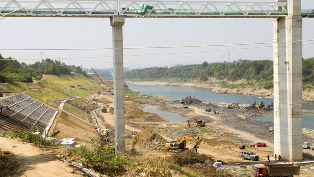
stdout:
MULTIPOLYGON (((172 99, 183 99, 186 96, 195 96, 203 101, 210 101, 213 103, 228 102, 232 103, 237 101, 238 103, 253 104, 254 99, 258 104, 263 101, 264 104, 271 103, 273 99, 264 98, 263 96, 251 96, 241 94, 224 94, 224 93, 213 93, 210 89, 204 88, 192 88, 192 87, 173 87, 173 86, 148 86, 148 85, 136 85, 128 84, 129 88, 133 91, 138 91, 147 95, 163 95, 172 99), (262 98, 260 98, 262 97, 262 98)), ((152 110, 151 110, 152 111, 152 110)), ((151 112, 149 111, 149 112, 151 112)), ((156 113, 157 114, 157 113, 156 113)), ((159 114, 157 114, 159 115, 159 114)), ((180 115, 179 115, 180 116, 180 115)), ((274 122, 273 115, 267 116, 254 116, 248 117, 255 120, 271 121, 274 122)), ((184 118, 186 120, 186 118, 184 118)), ((182 120, 184 121, 184 120, 182 120)), ((303 103, 303 128, 314 129, 314 104, 313 102, 303 103)))

